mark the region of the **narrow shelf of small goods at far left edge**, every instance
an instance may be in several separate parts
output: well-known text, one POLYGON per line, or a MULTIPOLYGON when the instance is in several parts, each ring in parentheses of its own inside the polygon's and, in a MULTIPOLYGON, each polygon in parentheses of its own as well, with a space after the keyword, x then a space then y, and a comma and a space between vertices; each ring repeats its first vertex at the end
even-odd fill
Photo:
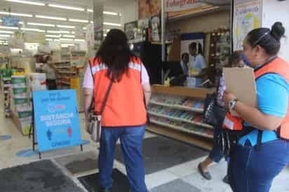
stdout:
POLYGON ((6 117, 11 116, 10 98, 11 98, 11 69, 1 70, 1 88, 4 96, 4 113, 6 117))

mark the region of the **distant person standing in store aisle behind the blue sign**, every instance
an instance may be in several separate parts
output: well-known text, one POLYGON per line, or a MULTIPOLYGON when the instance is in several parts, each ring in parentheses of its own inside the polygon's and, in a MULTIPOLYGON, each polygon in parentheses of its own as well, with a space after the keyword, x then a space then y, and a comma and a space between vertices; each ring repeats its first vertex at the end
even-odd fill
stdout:
POLYGON ((55 68, 53 67, 53 64, 51 64, 52 58, 51 56, 46 56, 44 60, 44 66, 43 71, 46 73, 46 84, 48 90, 56 90, 56 74, 55 74, 55 68))

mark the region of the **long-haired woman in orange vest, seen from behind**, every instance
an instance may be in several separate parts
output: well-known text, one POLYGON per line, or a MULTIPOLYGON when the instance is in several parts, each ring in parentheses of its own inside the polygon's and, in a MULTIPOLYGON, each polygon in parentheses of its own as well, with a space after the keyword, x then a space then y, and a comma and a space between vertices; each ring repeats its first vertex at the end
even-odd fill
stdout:
POLYGON ((151 95, 147 70, 140 58, 130 51, 126 34, 119 29, 109 31, 90 64, 91 72, 88 67, 83 82, 86 119, 93 97, 94 110, 98 114, 105 92, 113 82, 102 114, 98 159, 101 191, 112 188, 114 151, 116 141, 120 139, 130 191, 147 192, 142 159, 142 140, 147 121, 145 105, 151 95))

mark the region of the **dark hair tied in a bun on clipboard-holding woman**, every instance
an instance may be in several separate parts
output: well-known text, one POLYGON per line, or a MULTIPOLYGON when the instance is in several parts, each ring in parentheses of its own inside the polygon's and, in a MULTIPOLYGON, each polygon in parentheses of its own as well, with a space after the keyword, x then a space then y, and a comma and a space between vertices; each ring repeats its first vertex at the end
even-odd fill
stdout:
POLYGON ((277 55, 281 48, 280 40, 285 34, 285 28, 281 22, 275 22, 269 28, 253 29, 247 36, 247 41, 253 48, 257 45, 264 48, 268 55, 277 55))

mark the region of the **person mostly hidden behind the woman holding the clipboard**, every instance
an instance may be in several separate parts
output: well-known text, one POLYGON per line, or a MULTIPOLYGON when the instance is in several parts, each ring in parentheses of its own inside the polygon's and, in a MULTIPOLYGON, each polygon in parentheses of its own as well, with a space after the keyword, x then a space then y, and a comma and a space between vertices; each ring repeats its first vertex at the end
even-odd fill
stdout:
MULTIPOLYGON (((245 64, 241 60, 241 51, 235 51, 232 53, 231 57, 229 58, 229 63, 225 67, 244 67, 245 64)), ((226 86, 224 85, 224 77, 222 76, 219 81, 219 87, 217 88, 217 104, 220 107, 224 107, 224 101, 222 99, 223 92, 226 89, 226 86)), ((215 163, 219 163, 220 160, 223 158, 222 152, 220 151, 220 146, 218 144, 217 138, 220 135, 222 129, 222 121, 220 121, 220 125, 214 126, 214 137, 213 137, 213 149, 210 151, 209 156, 203 160, 203 162, 199 163, 198 170, 199 173, 205 178, 205 179, 212 179, 212 176, 210 172, 208 171, 208 166, 215 163)), ((225 183, 228 183, 228 177, 227 175, 224 177, 223 181, 225 183)))

